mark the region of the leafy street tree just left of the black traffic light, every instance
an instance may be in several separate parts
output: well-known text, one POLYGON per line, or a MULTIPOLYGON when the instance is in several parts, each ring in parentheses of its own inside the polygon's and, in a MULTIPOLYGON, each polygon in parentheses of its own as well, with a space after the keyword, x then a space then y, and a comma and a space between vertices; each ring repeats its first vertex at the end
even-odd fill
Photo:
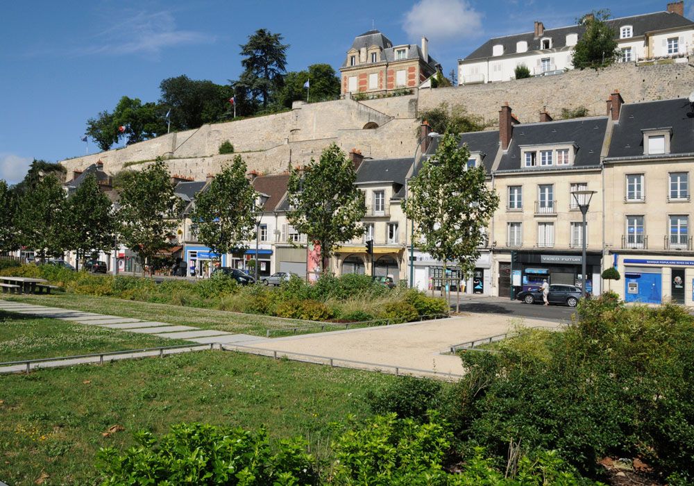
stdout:
POLYGON ((291 170, 287 194, 294 209, 287 212, 287 219, 296 231, 320 244, 323 272, 337 244, 364 234, 360 221, 366 203, 356 180, 352 161, 336 144, 323 150, 319 162, 311 159, 303 171, 291 170))

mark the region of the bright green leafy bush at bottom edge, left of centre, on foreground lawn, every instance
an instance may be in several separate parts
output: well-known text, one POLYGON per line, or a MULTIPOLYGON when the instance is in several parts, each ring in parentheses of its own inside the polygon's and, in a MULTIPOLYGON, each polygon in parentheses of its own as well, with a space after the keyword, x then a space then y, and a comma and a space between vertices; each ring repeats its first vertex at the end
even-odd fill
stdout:
POLYGON ((124 454, 99 451, 104 485, 316 485, 314 458, 303 439, 280 440, 271 450, 267 433, 242 428, 180 424, 157 440, 135 434, 124 454))

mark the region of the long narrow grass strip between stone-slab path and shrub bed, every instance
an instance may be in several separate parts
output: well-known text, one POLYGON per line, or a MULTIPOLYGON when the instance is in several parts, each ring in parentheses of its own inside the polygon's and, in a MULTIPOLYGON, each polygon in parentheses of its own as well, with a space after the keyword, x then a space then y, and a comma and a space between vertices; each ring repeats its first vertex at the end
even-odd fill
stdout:
POLYGON ((303 321, 278 319, 271 316, 239 314, 237 312, 183 307, 181 305, 126 301, 112 297, 80 294, 3 295, 2 299, 258 336, 264 336, 266 329, 293 328, 307 325, 303 321))

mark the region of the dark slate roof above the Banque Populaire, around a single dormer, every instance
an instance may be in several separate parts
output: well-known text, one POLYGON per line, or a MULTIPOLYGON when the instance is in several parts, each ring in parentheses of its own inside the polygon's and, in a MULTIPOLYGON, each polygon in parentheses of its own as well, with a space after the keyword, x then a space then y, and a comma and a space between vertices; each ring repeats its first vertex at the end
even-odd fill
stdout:
POLYGON ((643 156, 643 132, 672 128, 670 153, 694 153, 694 109, 688 99, 648 101, 622 106, 607 158, 643 156))

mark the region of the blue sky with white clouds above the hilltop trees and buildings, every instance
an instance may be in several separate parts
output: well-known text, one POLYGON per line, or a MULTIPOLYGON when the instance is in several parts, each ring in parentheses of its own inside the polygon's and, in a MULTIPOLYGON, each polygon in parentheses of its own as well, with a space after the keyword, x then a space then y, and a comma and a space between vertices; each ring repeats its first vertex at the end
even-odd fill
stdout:
MULTIPOLYGON (((0 6, 0 178, 21 180, 33 158, 81 156, 85 121, 121 96, 156 101, 164 78, 227 83, 239 44, 257 28, 285 36, 288 69, 339 68, 355 35, 430 40, 448 74, 486 38, 573 24, 589 10, 613 17, 666 9, 666 0, 168 0, 3 2, 0 6), (342 6, 348 5, 348 10, 342 6)), ((693 17, 689 3, 688 17, 693 17)), ((90 153, 96 146, 90 141, 90 153)))

